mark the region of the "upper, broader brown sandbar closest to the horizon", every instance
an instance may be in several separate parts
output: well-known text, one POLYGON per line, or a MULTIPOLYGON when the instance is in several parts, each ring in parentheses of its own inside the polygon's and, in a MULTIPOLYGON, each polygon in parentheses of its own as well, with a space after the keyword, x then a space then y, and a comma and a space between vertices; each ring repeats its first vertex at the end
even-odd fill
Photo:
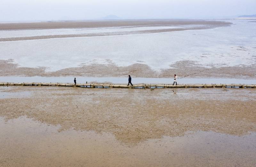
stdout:
POLYGON ((174 26, 174 25, 208 25, 229 26, 223 21, 186 20, 186 19, 142 19, 142 20, 87 20, 87 21, 53 21, 37 23, 2 23, 0 30, 32 30, 59 28, 99 28, 99 27, 138 27, 138 26, 174 26))

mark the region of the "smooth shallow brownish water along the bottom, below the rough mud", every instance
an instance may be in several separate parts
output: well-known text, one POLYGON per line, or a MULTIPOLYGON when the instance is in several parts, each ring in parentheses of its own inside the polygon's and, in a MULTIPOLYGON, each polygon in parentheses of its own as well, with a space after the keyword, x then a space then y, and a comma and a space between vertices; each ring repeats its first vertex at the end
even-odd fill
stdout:
POLYGON ((256 133, 187 132, 136 145, 110 133, 0 117, 0 166, 255 166, 256 133), (15 161, 13 161, 15 159, 15 161))

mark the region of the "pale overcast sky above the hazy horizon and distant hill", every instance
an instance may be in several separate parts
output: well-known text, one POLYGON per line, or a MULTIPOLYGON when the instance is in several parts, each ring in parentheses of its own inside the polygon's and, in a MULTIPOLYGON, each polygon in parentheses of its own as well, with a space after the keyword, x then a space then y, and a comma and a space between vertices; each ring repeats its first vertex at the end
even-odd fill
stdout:
POLYGON ((0 0, 0 21, 221 18, 256 14, 256 0, 0 0))

